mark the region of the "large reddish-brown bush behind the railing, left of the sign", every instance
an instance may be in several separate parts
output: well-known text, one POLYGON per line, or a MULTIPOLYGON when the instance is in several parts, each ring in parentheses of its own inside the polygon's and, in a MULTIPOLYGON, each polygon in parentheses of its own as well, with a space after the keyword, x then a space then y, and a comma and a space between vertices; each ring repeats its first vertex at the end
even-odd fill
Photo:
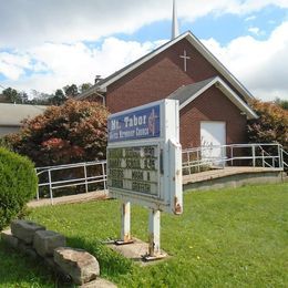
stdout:
POLYGON ((97 103, 68 100, 24 121, 21 131, 8 140, 37 166, 104 160, 107 114, 97 103))

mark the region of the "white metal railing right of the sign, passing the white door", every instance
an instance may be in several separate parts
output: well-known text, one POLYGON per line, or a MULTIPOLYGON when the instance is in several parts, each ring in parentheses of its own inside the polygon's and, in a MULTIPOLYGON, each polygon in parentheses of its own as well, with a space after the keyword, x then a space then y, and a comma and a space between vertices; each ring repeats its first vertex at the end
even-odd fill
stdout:
POLYGON ((288 156, 288 153, 280 144, 255 143, 202 146, 184 150, 182 155, 183 174, 193 174, 225 166, 284 169, 287 167, 284 156, 288 156))

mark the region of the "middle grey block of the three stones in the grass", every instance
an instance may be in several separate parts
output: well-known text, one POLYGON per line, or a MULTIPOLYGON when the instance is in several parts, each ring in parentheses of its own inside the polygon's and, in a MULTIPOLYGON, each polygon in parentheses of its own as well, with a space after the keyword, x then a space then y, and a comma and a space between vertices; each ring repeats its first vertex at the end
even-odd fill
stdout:
POLYGON ((55 232, 38 230, 34 234, 33 247, 37 253, 42 256, 53 256, 53 251, 58 247, 66 245, 66 238, 55 232))

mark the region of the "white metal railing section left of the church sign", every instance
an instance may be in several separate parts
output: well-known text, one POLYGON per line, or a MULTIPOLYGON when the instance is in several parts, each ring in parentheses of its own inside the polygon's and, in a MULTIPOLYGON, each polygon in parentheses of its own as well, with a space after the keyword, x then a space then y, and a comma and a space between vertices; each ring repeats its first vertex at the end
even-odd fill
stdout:
POLYGON ((96 183, 102 183, 106 189, 106 161, 38 167, 35 171, 39 178, 37 199, 41 188, 48 187, 51 204, 55 189, 83 186, 88 193, 89 186, 96 183))

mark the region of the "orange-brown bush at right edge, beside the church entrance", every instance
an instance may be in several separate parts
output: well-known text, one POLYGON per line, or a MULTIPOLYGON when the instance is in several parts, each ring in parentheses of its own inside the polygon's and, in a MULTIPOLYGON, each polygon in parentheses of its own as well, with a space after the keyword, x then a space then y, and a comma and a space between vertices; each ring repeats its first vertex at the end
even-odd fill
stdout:
POLYGON ((250 103, 258 114, 248 122, 251 143, 279 143, 288 151, 288 111, 271 102, 255 100, 250 103))

